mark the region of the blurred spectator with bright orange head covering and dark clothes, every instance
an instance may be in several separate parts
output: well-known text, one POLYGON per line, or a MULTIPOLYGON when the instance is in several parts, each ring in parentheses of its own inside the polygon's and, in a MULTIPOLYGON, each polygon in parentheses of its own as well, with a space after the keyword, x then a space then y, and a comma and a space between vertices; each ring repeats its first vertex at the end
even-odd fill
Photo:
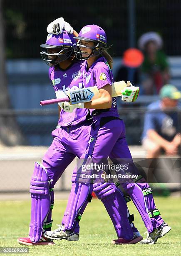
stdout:
POLYGON ((131 81, 133 85, 139 84, 139 67, 143 63, 144 55, 141 51, 135 48, 130 48, 124 51, 122 66, 117 72, 115 81, 131 81))

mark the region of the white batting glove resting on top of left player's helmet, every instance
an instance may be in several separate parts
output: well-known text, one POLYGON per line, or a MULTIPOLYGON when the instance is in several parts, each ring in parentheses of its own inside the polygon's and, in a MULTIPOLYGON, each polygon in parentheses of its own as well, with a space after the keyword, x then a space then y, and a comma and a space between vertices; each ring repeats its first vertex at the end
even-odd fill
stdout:
POLYGON ((64 21, 64 18, 58 18, 54 21, 52 21, 47 26, 47 32, 52 34, 61 34, 63 32, 63 29, 67 31, 67 33, 72 34, 74 29, 70 26, 70 24, 66 21, 64 21))

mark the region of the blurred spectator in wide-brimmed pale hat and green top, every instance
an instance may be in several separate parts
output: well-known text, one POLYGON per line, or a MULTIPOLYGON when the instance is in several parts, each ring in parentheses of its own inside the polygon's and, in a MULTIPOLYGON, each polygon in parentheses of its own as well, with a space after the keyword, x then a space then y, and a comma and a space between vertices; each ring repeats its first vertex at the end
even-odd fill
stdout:
POLYGON ((138 45, 144 52, 144 62, 141 66, 144 94, 159 94, 161 87, 170 79, 169 64, 166 55, 161 51, 162 38, 155 32, 148 32, 139 38, 138 45))

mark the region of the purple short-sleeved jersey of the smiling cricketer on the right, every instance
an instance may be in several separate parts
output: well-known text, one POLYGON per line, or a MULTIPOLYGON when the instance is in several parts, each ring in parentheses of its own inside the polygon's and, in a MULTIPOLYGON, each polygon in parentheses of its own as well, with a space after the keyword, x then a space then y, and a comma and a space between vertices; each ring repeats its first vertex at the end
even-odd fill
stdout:
MULTIPOLYGON (((112 85, 114 82, 112 70, 104 57, 98 58, 88 69, 87 61, 84 62, 85 69, 83 71, 83 83, 84 87, 97 86, 98 89, 104 87, 107 84, 112 85), (88 70, 87 70, 88 69, 88 70)), ((92 113, 94 109, 90 109, 92 113)), ((117 102, 116 98, 112 98, 112 107, 107 110, 98 110, 101 116, 116 116, 117 113, 117 102)))

